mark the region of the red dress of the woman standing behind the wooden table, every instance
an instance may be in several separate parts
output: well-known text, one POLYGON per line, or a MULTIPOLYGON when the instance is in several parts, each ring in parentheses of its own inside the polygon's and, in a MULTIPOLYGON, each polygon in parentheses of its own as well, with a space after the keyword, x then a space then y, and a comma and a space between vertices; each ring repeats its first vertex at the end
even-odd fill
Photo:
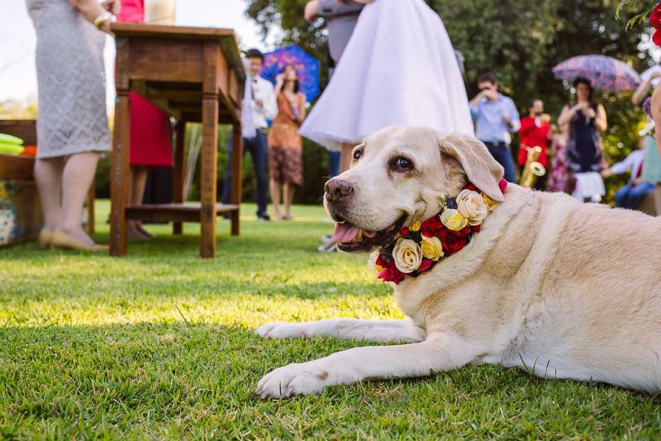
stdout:
MULTIPOLYGON (((118 21, 145 21, 145 0, 123 0, 118 21)), ((131 102, 131 165, 172 167, 172 135, 169 117, 136 92, 131 102)))

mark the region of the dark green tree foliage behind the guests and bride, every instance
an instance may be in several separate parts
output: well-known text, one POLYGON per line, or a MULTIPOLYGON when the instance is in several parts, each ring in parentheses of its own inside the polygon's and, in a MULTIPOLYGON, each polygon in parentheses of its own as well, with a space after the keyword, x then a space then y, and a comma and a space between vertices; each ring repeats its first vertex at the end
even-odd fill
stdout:
MULTIPOLYGON (((570 99, 570 85, 555 79, 551 69, 570 57, 608 55, 629 63, 638 72, 651 62, 647 23, 639 19, 627 26, 632 17, 649 10, 648 0, 426 2, 443 19, 454 47, 463 53, 468 94, 476 92, 474 82, 479 74, 492 72, 521 112, 525 112, 527 102, 541 98, 547 111, 558 116, 570 99)), ((304 21, 306 0, 248 3, 246 14, 260 25, 264 35, 279 25, 283 31, 280 43, 297 43, 326 62, 324 22, 304 21)), ((630 94, 605 93, 600 99, 609 114, 604 141, 607 160, 613 162, 636 145, 642 114, 631 105, 630 94)))

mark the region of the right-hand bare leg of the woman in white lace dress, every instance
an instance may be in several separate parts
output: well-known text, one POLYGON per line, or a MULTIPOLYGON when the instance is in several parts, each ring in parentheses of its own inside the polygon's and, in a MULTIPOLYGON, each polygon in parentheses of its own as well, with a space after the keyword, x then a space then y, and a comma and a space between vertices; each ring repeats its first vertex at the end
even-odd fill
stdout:
POLYGON ((94 245, 94 240, 87 236, 81 225, 83 202, 90 189, 98 152, 78 153, 70 156, 62 172, 62 209, 57 229, 87 245, 94 245))

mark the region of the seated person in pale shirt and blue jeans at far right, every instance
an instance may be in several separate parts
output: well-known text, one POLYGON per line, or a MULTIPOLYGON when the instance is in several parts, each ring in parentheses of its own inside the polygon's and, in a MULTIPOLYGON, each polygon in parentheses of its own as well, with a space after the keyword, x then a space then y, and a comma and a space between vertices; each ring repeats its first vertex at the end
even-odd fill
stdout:
POLYGON ((622 174, 631 172, 627 185, 618 189, 615 194, 615 205, 621 208, 636 209, 640 200, 654 191, 655 183, 641 179, 644 168, 644 139, 640 139, 638 150, 633 150, 624 161, 611 165, 602 172, 603 175, 622 174))

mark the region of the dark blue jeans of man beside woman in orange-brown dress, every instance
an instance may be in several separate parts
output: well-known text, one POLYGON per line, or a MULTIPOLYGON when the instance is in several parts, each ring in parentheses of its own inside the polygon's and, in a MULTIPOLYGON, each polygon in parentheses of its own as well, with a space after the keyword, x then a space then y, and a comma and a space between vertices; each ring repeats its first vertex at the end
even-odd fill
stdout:
MULTIPOLYGON (((257 177, 257 216, 266 214, 266 205, 269 203, 269 178, 266 176, 266 164, 269 160, 269 146, 266 144, 266 132, 258 130, 253 139, 243 139, 243 154, 250 152, 253 160, 253 169, 257 177)), ((222 189, 222 203, 230 203, 230 189, 232 187, 232 133, 227 143, 227 172, 225 172, 225 185, 222 189)))

